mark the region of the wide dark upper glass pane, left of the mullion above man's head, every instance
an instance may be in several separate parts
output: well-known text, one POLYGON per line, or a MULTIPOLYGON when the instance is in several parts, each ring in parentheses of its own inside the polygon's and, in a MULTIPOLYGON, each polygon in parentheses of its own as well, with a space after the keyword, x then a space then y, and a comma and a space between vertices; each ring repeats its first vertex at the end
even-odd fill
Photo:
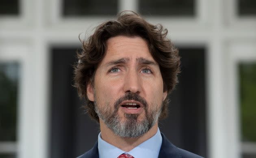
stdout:
POLYGON ((64 16, 116 15, 117 0, 64 0, 64 16), (99 5, 100 4, 100 5, 99 5))

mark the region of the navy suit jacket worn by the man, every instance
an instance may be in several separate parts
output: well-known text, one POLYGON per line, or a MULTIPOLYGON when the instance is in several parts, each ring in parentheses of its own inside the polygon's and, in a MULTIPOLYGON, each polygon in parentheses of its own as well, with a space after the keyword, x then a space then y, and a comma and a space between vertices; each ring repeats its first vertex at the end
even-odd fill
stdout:
MULTIPOLYGON (((174 146, 166 137, 162 135, 162 145, 160 148, 160 152, 158 158, 202 158, 196 154, 188 152, 186 150, 180 149, 174 146)), ((95 143, 92 149, 90 149, 85 154, 82 154, 78 158, 99 158, 98 151, 98 141, 95 143)))

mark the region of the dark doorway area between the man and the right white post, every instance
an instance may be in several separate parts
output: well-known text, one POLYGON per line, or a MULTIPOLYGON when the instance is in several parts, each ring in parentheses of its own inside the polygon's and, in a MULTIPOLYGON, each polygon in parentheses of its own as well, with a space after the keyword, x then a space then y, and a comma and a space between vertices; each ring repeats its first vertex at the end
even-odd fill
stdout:
POLYGON ((160 130, 176 146, 206 156, 205 49, 181 48, 179 83, 160 130))

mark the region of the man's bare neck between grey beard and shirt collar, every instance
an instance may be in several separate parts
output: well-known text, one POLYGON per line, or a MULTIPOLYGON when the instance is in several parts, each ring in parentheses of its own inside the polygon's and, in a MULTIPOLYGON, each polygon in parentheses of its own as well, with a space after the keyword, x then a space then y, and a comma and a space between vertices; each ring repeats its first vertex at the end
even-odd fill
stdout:
POLYGON ((101 132, 101 138, 108 142, 111 145, 114 145, 115 147, 118 147, 119 149, 129 152, 133 148, 137 147, 144 141, 150 139, 153 137, 158 129, 158 123, 156 124, 144 135, 141 137, 136 138, 127 138, 127 137, 119 137, 113 133, 111 129, 109 129, 103 121, 100 119, 100 132, 101 132))

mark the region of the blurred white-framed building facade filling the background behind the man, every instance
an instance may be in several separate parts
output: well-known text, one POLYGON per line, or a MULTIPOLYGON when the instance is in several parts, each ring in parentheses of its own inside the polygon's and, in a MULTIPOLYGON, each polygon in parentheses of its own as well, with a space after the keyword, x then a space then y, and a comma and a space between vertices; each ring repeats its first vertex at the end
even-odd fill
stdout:
POLYGON ((72 87, 78 36, 123 10, 161 23, 180 83, 159 124, 207 158, 256 158, 255 0, 1 0, 0 158, 74 158, 99 127, 72 87))

